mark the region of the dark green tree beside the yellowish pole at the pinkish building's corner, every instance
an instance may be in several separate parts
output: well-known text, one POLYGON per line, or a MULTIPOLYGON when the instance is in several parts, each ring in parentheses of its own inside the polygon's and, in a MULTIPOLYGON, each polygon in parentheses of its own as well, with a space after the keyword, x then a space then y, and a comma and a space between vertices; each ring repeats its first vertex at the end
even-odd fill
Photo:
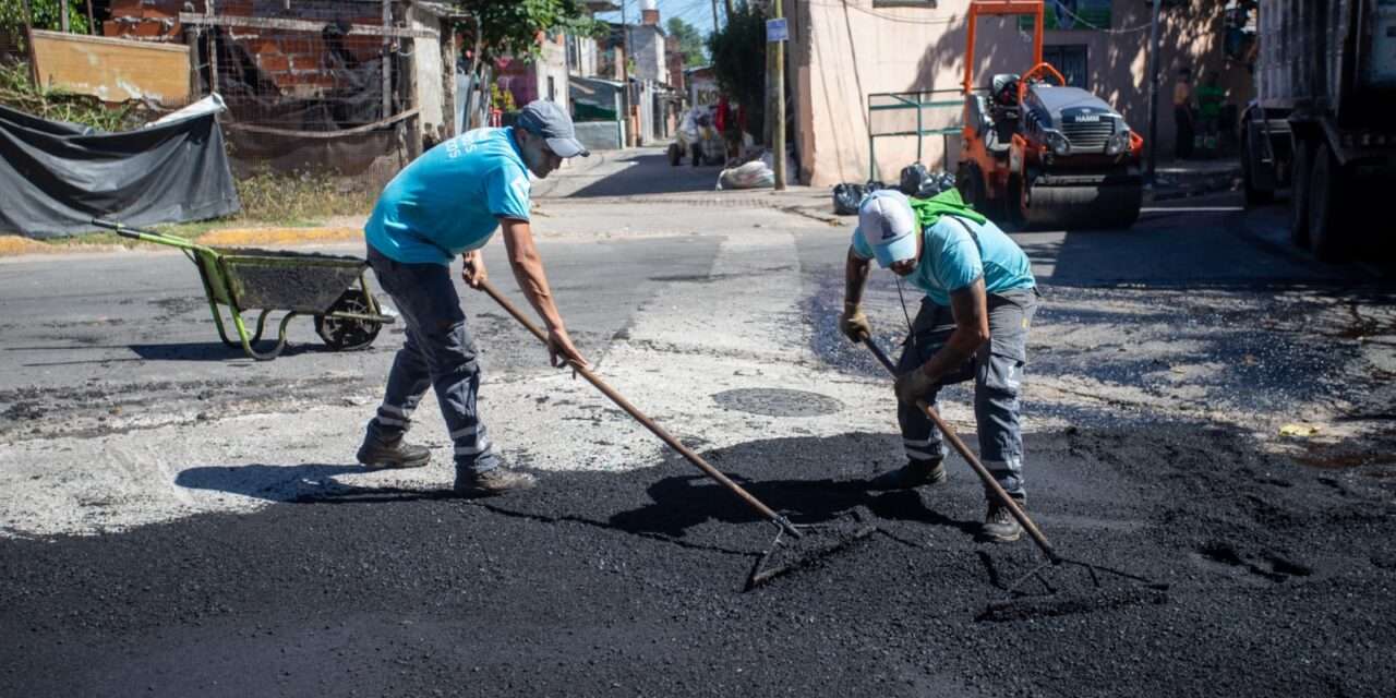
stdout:
POLYGON ((708 36, 718 88, 747 110, 747 130, 759 138, 765 119, 766 18, 737 1, 722 31, 708 36))

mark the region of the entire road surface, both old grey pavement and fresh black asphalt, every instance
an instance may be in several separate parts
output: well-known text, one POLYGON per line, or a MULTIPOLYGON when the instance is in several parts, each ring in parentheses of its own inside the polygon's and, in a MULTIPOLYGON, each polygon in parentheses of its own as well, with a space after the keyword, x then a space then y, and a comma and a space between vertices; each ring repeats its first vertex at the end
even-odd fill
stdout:
MULTIPOLYGON (((584 350, 778 508, 885 535, 737 593, 769 529, 472 292, 486 419, 544 472, 525 497, 440 494, 430 398, 413 438, 437 463, 352 463, 398 335, 329 353, 306 320, 255 363, 216 343, 179 255, 7 260, 0 694, 1390 692, 1372 621, 1396 610, 1396 317, 1367 269, 1293 254, 1282 212, 1230 195, 1015 235, 1047 295, 1033 511, 1174 591, 981 624, 1033 556, 974 543, 963 466, 937 494, 857 486, 899 454, 886 383, 832 327, 849 226, 815 215, 822 193, 712 194, 713 172, 621 161, 537 218, 584 350), (666 177, 678 193, 632 195, 666 177), (1321 431, 1277 440, 1293 422, 1321 431)), ((500 246, 487 260, 512 293, 500 246)), ((885 345, 898 297, 877 276, 885 345)), ((973 443, 962 389, 944 412, 973 443)))

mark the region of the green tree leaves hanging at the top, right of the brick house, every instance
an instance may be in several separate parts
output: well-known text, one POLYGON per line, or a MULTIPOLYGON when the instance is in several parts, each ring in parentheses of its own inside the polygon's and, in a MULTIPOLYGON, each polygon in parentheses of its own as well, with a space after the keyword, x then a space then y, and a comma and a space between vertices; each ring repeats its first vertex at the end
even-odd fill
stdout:
MULTIPOLYGON (((581 0, 461 0, 456 7, 479 17, 486 60, 501 56, 528 57, 539 50, 539 32, 567 31, 595 35, 602 22, 584 13, 581 0)), ((461 22, 466 35, 475 35, 475 22, 461 22)))

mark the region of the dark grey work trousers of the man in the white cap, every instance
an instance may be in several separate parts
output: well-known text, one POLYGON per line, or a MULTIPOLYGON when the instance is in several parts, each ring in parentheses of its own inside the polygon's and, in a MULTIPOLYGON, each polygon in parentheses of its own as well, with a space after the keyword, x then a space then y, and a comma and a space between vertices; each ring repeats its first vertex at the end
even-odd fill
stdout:
MULTIPOLYGON (((942 385, 974 380, 974 423, 979 430, 979 458, 1009 494, 1026 496, 1023 489, 1023 434, 1019 427, 1018 399, 1023 370, 1027 366, 1027 329, 1037 313, 1037 290, 1011 290, 988 295, 988 342, 965 362, 960 370, 944 377, 927 403, 937 406, 942 385)), ((898 374, 921 367, 945 346, 955 331, 951 309, 921 300, 921 310, 912 322, 912 334, 902 349, 898 374)), ((934 461, 948 454, 940 430, 914 405, 898 402, 896 422, 902 426, 902 445, 910 461, 934 461)))

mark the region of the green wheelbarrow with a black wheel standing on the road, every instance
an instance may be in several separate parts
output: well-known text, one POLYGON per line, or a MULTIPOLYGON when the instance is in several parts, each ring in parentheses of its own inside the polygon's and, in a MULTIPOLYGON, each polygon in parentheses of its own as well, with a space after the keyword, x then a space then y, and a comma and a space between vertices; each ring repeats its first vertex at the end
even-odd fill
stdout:
POLYGON ((180 248, 204 281, 208 309, 218 325, 218 338, 228 346, 242 346, 247 356, 258 362, 275 359, 286 348, 286 325, 302 314, 314 315, 315 334, 325 346, 336 352, 364 349, 378 336, 392 315, 383 314, 369 290, 364 271, 369 262, 359 257, 254 250, 242 247, 208 247, 173 235, 128 228, 113 221, 92 219, 92 225, 114 230, 121 237, 180 248), (357 282, 357 288, 355 286, 357 282), (226 306, 237 329, 237 341, 229 339, 223 314, 226 306), (248 334, 243 313, 260 310, 257 331, 248 334), (267 315, 286 311, 281 318, 276 345, 258 352, 267 315))

